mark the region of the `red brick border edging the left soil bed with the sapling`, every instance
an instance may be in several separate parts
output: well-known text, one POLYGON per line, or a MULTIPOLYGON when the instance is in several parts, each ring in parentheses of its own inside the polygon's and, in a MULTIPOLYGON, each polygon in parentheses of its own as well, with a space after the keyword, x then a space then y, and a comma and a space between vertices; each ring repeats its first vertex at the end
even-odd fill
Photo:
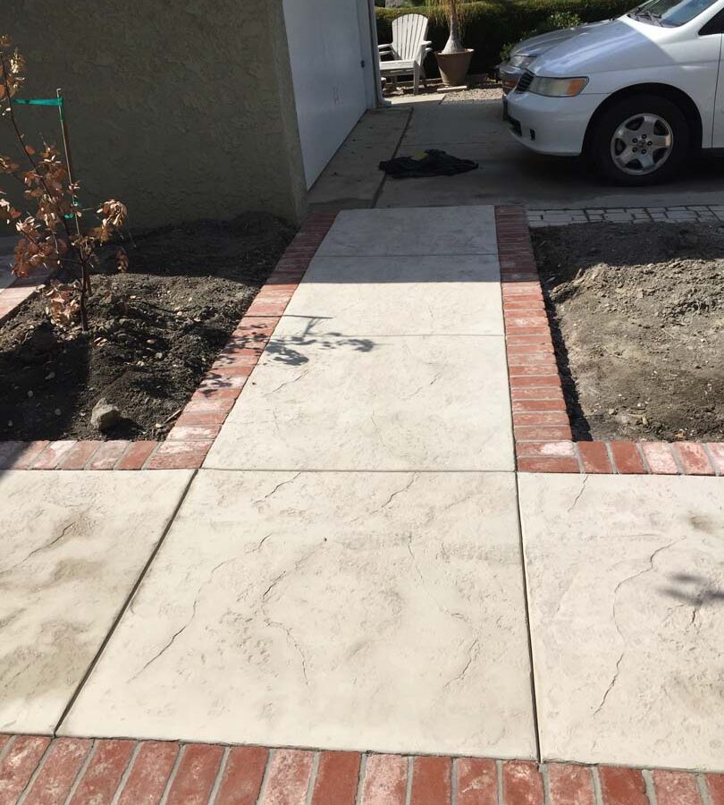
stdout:
MULTIPOLYGON (((0 442, 0 470, 198 469, 336 217, 307 217, 163 442, 0 442)), ((21 281, 0 292, 0 324, 35 288, 21 281)))

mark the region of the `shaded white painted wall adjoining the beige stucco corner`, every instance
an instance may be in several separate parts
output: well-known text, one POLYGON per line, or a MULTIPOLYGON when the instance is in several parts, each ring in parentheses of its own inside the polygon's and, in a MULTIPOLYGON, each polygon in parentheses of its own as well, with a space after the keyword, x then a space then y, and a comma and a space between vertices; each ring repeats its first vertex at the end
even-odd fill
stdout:
POLYGON ((283 0, 307 188, 375 106, 368 3, 283 0))

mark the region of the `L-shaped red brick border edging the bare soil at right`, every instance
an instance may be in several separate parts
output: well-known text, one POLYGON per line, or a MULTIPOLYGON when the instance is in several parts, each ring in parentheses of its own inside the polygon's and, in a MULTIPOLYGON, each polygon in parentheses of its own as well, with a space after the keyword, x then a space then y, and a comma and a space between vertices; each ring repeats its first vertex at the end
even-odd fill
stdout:
POLYGON ((526 210, 495 222, 518 470, 724 476, 724 442, 574 441, 526 210))

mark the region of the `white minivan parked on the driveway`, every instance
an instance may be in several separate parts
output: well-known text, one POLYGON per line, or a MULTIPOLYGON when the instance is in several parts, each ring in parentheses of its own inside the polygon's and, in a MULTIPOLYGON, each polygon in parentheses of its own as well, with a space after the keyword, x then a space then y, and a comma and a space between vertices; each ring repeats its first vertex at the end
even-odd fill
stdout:
POLYGON ((696 148, 724 148, 724 0, 650 0, 561 33, 529 40, 529 56, 527 43, 513 51, 526 71, 509 123, 527 148, 584 154, 627 185, 668 178, 696 148))

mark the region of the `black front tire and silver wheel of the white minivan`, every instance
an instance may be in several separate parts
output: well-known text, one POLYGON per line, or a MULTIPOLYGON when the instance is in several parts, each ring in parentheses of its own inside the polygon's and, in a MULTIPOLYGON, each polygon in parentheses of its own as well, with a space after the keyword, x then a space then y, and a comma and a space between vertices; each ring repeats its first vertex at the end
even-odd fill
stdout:
POLYGON ((594 120, 586 156, 609 182, 641 187, 669 179, 690 149, 691 131, 679 106, 641 93, 621 98, 594 120))

